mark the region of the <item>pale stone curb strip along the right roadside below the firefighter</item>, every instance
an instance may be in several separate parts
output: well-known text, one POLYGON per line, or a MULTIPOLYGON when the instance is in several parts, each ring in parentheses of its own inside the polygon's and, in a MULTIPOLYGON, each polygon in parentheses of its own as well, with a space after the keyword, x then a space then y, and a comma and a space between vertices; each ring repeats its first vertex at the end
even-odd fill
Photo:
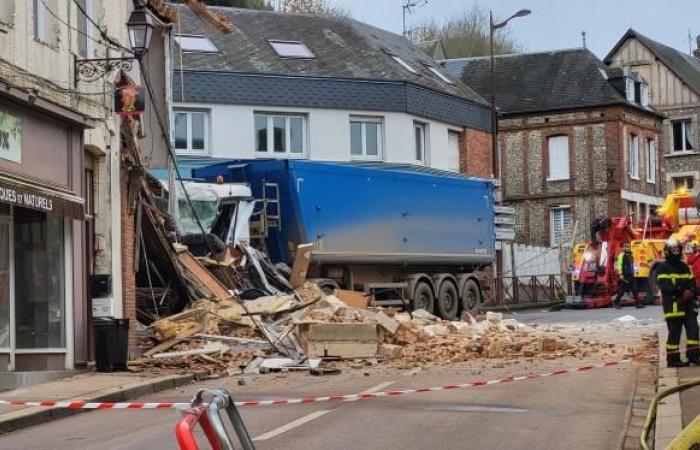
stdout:
MULTIPOLYGON (((668 332, 665 327, 659 330, 659 379, 656 392, 678 386, 678 369, 666 366, 666 354, 663 349, 668 332)), ((656 426, 654 429, 654 448, 666 448, 674 437, 683 431, 680 392, 673 393, 658 403, 656 409, 656 426)))

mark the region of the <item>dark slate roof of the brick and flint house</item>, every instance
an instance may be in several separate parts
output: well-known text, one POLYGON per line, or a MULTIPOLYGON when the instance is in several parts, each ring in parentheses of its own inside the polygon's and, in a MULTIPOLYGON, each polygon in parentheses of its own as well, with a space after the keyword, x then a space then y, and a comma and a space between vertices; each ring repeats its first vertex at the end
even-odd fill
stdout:
MULTIPOLYGON (((490 97, 488 57, 448 59, 442 64, 484 98, 490 97)), ((603 62, 584 48, 499 55, 495 67, 496 105, 504 114, 634 105, 609 83, 603 62)))

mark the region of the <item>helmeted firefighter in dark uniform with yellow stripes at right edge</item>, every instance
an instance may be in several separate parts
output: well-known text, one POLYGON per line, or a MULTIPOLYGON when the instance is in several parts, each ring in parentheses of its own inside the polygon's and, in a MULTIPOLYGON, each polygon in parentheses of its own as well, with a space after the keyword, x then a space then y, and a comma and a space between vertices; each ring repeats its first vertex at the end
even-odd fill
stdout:
POLYGON ((657 266, 656 282, 661 289, 664 319, 668 327, 666 363, 668 367, 683 367, 688 363, 700 365, 694 277, 683 261, 683 247, 677 239, 666 241, 664 253, 666 260, 657 266), (680 356, 683 327, 688 341, 688 362, 681 361, 680 356))

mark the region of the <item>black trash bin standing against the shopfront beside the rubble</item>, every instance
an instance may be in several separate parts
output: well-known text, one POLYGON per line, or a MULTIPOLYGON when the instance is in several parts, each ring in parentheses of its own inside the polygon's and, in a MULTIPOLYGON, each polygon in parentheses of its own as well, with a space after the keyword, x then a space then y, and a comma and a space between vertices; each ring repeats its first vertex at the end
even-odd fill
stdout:
POLYGON ((95 326, 95 366, 98 372, 126 370, 129 319, 100 318, 95 326))

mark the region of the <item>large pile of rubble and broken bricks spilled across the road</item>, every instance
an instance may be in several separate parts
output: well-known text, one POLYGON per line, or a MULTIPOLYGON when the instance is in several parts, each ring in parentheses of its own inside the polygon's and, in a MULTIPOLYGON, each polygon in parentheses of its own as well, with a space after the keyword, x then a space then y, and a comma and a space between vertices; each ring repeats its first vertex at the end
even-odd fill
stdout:
POLYGON ((132 370, 186 370, 203 377, 289 370, 320 375, 379 362, 412 368, 610 352, 594 339, 572 339, 500 313, 444 321, 425 310, 375 307, 359 293, 325 295, 311 282, 248 300, 231 289, 226 297, 192 302, 151 323, 142 343, 147 350, 130 362, 132 370))

